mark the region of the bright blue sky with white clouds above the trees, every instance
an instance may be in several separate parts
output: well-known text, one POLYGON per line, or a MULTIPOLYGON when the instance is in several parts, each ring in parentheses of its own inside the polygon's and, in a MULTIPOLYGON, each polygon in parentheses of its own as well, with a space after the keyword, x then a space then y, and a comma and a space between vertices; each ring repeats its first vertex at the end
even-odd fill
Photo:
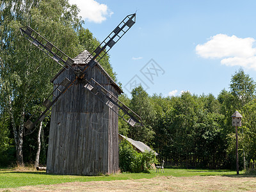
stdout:
POLYGON ((84 28, 102 41, 126 15, 136 24, 109 51, 118 81, 130 97, 141 83, 164 96, 189 91, 216 97, 240 67, 256 76, 256 1, 70 0, 84 28))

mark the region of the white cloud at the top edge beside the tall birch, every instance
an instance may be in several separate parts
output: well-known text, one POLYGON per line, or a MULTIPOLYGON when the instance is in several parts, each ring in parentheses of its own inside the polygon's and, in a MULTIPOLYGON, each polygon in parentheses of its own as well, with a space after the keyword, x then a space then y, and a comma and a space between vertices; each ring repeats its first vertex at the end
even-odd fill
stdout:
POLYGON ((88 22, 101 23, 113 14, 106 4, 100 4, 95 0, 69 0, 69 3, 77 4, 80 9, 79 16, 88 22))

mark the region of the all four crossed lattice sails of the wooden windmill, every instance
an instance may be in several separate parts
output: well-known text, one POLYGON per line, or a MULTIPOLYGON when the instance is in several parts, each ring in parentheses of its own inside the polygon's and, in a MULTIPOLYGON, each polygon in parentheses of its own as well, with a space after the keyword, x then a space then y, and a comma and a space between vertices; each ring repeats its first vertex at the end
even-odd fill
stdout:
MULTIPOLYGON (((44 36, 40 35, 37 33, 35 30, 30 28, 29 26, 25 26, 23 28, 20 28, 21 34, 29 41, 31 44, 35 45, 40 49, 41 51, 45 52, 52 60, 56 61, 59 63, 62 67, 69 69, 71 68, 75 73, 76 73, 76 78, 73 79, 72 81, 67 79, 64 79, 65 81, 65 86, 62 90, 60 90, 59 86, 54 89, 54 91, 47 97, 47 99, 44 101, 42 104, 45 109, 44 111, 40 111, 42 106, 40 106, 38 109, 36 109, 36 112, 30 116, 29 120, 24 124, 24 127, 26 127, 27 131, 24 133, 29 134, 32 131, 33 127, 35 127, 38 122, 41 122, 44 120, 45 116, 51 111, 51 108, 54 106, 54 104, 57 102, 58 99, 60 99, 61 95, 63 95, 65 92, 67 92, 68 88, 72 86, 77 79, 84 79, 86 84, 84 85, 85 88, 90 90, 92 93, 97 92, 94 95, 99 98, 100 101, 104 102, 110 109, 113 109, 114 106, 117 106, 118 109, 122 110, 124 112, 124 115, 119 115, 118 112, 115 111, 119 116, 121 116, 125 122, 129 123, 132 126, 137 126, 137 125, 142 125, 140 116, 136 115, 131 109, 129 109, 127 106, 125 106, 120 100, 118 100, 114 95, 108 92, 105 88, 103 88, 97 81, 94 79, 91 79, 90 82, 84 77, 84 71, 88 67, 94 67, 97 62, 99 62, 107 53, 108 51, 113 47, 113 45, 124 36, 125 33, 133 26, 133 24, 136 21, 136 13, 127 15, 125 19, 118 24, 118 26, 106 37, 106 39, 95 49, 95 51, 86 58, 84 63, 87 64, 87 66, 82 70, 79 68, 75 68, 74 65, 74 60, 72 60, 67 54, 62 52, 60 49, 58 49, 56 46, 51 44, 47 39, 44 38, 44 36), (55 95, 55 93, 58 93, 55 95), (107 99, 107 102, 103 101, 100 99, 99 95, 102 95, 104 98, 107 99), (52 97, 52 99, 51 99, 52 97), (34 122, 33 118, 35 116, 38 116, 34 122), (129 116, 129 119, 125 118, 126 116, 129 116)), ((62 83, 61 83, 62 84, 62 83)), ((64 84, 64 83, 63 83, 64 84)), ((62 85, 63 85, 62 84, 62 85)))

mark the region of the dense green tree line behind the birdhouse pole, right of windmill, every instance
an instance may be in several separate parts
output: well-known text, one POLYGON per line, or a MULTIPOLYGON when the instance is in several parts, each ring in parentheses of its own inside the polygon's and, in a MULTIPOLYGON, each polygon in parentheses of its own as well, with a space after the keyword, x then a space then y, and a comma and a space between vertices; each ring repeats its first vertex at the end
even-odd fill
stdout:
POLYGON ((120 120, 119 131, 140 140, 159 153, 171 166, 188 168, 236 168, 235 128, 232 114, 238 110, 239 163, 256 159, 255 82, 240 68, 230 80, 229 90, 218 97, 183 92, 176 97, 148 95, 140 86, 131 99, 120 98, 141 116, 143 127, 128 127, 120 120))

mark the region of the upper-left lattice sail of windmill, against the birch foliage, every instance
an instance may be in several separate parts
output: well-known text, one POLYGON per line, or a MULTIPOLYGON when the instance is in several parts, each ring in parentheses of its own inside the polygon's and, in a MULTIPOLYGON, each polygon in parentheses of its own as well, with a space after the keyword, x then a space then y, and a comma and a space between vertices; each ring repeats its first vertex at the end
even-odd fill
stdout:
POLYGON ((20 28, 21 34, 29 41, 31 44, 35 45, 47 54, 52 60, 56 61, 62 67, 69 68, 74 64, 74 60, 72 60, 67 54, 62 52, 56 46, 51 44, 44 36, 37 33, 34 29, 29 26, 25 26, 20 28))

